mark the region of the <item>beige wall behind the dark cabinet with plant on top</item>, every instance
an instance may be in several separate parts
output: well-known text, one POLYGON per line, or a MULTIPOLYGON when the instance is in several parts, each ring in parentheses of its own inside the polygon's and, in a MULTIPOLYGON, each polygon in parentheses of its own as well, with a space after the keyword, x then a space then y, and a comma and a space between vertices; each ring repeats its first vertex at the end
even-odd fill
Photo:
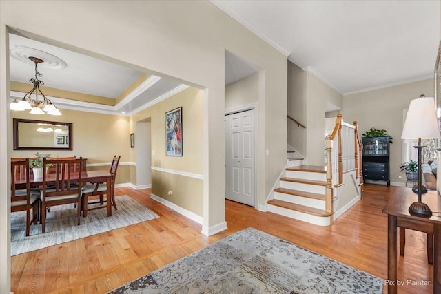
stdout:
POLYGON ((386 129, 393 137, 391 147, 390 172, 391 182, 406 182, 406 176, 400 173, 398 166, 402 163, 402 111, 409 108, 412 99, 420 94, 433 96, 433 79, 396 85, 384 89, 362 92, 345 96, 342 115, 345 120, 357 121, 359 134, 371 127, 386 129), (402 178, 396 178, 402 176, 402 178))

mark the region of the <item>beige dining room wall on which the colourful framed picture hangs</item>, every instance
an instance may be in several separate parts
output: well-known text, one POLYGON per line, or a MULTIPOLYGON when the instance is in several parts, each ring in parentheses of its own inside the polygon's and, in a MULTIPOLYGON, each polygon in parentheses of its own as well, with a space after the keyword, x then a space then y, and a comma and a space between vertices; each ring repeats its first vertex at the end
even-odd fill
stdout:
POLYGON ((203 216, 203 180, 188 175, 203 175, 203 91, 189 87, 135 114, 132 129, 137 121, 147 118, 152 123, 152 167, 167 170, 152 171, 152 193, 203 216), (165 112, 178 107, 182 107, 183 115, 183 156, 165 156, 165 112), (173 195, 169 196, 168 191, 173 195))

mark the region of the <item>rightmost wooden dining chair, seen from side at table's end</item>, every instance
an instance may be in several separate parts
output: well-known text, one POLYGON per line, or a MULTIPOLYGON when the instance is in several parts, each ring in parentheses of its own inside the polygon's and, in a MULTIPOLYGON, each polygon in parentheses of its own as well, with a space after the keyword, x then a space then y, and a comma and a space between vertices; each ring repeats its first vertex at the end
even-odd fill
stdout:
POLYGON ((83 217, 88 216, 88 210, 94 210, 94 209, 100 209, 105 208, 104 205, 105 202, 108 200, 112 201, 112 205, 115 208, 115 210, 118 210, 116 207, 115 202, 115 179, 116 179, 116 170, 118 169, 119 165, 119 159, 121 156, 114 156, 112 160, 112 165, 110 166, 110 174, 112 174, 112 180, 110 182, 111 186, 111 193, 110 199, 107 195, 106 199, 104 199, 104 194, 107 193, 107 184, 105 182, 95 182, 91 183, 89 185, 83 185, 81 188, 81 199, 82 199, 82 205, 83 205, 83 217), (88 198, 90 196, 99 196, 99 200, 89 202, 88 198), (88 206, 91 204, 100 204, 99 206, 94 206, 92 208, 89 208, 88 206))

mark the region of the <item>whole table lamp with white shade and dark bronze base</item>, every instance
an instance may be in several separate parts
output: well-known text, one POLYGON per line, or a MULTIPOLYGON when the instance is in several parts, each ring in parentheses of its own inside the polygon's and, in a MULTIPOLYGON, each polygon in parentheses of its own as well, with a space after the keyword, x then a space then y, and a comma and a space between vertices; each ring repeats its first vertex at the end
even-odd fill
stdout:
POLYGON ((409 207, 409 213, 414 216, 424 216, 430 218, 432 211, 429 206, 422 202, 422 179, 421 179, 421 139, 439 138, 440 127, 435 112, 435 99, 433 97, 425 97, 413 99, 409 105, 406 122, 402 129, 402 139, 418 139, 418 201, 413 202, 409 207))

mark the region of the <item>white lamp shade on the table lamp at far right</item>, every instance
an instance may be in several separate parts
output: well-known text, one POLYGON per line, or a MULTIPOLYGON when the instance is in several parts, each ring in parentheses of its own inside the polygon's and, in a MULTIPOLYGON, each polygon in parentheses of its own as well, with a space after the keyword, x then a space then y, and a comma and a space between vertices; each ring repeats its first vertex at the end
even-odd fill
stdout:
POLYGON ((402 139, 439 138, 440 127, 435 112, 433 97, 416 98, 411 101, 406 122, 402 129, 402 139))

